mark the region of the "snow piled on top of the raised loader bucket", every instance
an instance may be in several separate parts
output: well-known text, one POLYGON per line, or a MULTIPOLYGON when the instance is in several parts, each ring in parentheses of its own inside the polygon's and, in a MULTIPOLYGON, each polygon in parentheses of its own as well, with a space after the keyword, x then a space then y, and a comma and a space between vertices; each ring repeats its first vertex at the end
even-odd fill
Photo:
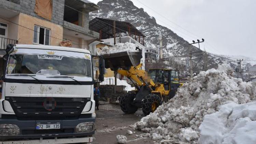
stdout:
POLYGON ((113 54, 118 52, 138 52, 139 50, 136 50, 136 45, 133 43, 118 43, 113 47, 105 46, 102 48, 101 52, 99 52, 100 55, 106 55, 106 54, 113 54))

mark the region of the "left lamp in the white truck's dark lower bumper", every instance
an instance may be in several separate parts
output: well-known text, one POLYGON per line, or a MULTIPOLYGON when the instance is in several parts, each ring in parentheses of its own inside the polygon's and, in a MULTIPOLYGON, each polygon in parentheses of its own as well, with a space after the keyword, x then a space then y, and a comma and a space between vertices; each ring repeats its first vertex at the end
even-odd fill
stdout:
POLYGON ((19 135, 19 127, 12 124, 0 124, 0 136, 19 135))

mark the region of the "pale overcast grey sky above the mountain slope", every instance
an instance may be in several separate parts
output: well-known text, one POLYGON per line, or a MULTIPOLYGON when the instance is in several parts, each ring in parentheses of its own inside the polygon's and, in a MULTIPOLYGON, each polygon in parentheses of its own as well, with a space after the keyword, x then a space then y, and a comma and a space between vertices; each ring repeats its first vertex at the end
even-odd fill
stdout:
POLYGON ((208 52, 256 59, 256 0, 131 1, 188 42, 205 39, 208 52))

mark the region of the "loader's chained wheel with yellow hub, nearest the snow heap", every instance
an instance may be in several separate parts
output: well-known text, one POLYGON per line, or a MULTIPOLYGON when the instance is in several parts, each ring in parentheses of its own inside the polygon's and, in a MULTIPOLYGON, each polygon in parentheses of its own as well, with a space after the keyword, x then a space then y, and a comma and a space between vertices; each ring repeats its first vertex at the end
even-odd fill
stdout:
POLYGON ((154 93, 150 93, 142 101, 142 112, 144 113, 145 116, 149 115, 150 113, 153 113, 161 104, 161 98, 154 93))

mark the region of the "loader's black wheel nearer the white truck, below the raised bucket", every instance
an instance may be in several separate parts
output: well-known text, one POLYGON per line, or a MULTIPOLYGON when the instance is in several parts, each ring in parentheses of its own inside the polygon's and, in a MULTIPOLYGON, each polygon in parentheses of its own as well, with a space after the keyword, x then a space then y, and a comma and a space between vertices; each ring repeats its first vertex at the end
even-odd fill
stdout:
POLYGON ((124 113, 134 114, 138 110, 138 107, 131 104, 134 98, 135 93, 132 92, 128 92, 126 95, 121 97, 120 106, 124 113))

